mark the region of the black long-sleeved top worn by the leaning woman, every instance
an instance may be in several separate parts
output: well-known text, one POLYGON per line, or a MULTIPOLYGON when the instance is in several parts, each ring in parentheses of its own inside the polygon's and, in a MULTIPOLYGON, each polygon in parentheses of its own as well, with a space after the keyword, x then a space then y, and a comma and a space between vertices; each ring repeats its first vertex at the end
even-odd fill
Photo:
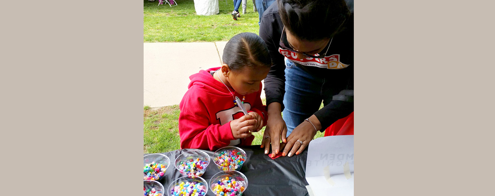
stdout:
MULTIPOLYGON (((347 5, 351 11, 351 16, 346 20, 342 30, 334 36, 326 56, 329 56, 330 54, 339 54, 339 61, 348 66, 344 69, 326 69, 304 66, 295 62, 298 67, 308 73, 311 73, 314 76, 324 77, 326 81, 329 80, 335 84, 332 87, 332 92, 334 92, 333 100, 314 113, 322 125, 320 131, 324 131, 335 121, 346 117, 354 111, 353 1, 347 0, 347 5)), ((259 28, 259 36, 265 41, 273 63, 268 76, 264 80, 266 104, 279 102, 282 104, 282 110, 284 109, 283 99, 285 94, 285 62, 284 55, 279 53, 279 42, 283 27, 284 24, 278 13, 277 3, 273 3, 263 13, 259 28)))

